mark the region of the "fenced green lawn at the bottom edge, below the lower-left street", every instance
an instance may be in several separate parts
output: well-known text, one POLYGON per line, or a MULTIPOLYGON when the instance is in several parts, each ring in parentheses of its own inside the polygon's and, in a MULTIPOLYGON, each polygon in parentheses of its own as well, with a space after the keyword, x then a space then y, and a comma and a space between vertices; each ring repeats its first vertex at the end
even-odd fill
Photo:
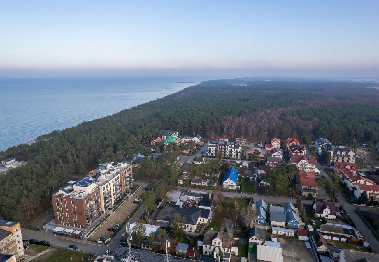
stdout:
POLYGON ((83 253, 83 259, 82 259, 82 253, 70 251, 70 250, 63 250, 63 249, 53 249, 42 256, 39 256, 31 262, 66 262, 66 261, 72 261, 72 262, 79 262, 79 261, 86 261, 88 254, 83 253))

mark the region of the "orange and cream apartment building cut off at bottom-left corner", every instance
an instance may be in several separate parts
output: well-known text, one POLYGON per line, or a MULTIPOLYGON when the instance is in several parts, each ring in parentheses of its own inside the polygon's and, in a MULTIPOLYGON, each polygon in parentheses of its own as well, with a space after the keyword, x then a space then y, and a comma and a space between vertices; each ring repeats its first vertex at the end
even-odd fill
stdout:
POLYGON ((14 254, 16 261, 25 257, 19 222, 0 220, 0 251, 14 254))

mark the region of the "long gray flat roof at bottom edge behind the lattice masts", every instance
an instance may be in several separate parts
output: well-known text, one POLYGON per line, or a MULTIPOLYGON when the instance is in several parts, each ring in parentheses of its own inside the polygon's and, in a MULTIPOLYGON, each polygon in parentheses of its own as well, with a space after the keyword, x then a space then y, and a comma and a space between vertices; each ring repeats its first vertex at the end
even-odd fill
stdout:
MULTIPOLYGON (((166 256, 164 254, 153 253, 145 250, 138 250, 132 248, 132 254, 139 262, 164 262, 166 256)), ((122 262, 121 259, 125 259, 129 256, 129 250, 125 246, 119 246, 112 252, 113 258, 107 258, 109 262, 122 262)), ((185 259, 183 257, 170 256, 172 262, 191 262, 192 259, 185 259)), ((124 260, 125 261, 125 260, 124 260)))

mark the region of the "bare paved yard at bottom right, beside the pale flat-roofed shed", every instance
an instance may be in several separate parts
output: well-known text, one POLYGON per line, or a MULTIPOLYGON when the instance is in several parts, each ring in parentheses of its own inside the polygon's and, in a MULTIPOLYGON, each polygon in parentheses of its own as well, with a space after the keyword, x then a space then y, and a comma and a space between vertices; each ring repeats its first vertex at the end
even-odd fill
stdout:
POLYGON ((277 238, 282 247, 284 262, 316 262, 312 251, 305 246, 304 240, 277 238))

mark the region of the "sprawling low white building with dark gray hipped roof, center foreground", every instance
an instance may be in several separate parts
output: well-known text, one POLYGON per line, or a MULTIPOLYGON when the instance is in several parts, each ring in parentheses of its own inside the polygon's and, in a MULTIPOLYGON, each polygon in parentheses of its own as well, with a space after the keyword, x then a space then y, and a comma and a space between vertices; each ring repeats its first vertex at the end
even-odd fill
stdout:
POLYGON ((183 206, 180 202, 179 207, 176 205, 163 206, 155 220, 165 222, 168 226, 175 214, 179 214, 184 220, 183 230, 189 232, 195 232, 198 223, 206 224, 212 217, 210 209, 183 206))

